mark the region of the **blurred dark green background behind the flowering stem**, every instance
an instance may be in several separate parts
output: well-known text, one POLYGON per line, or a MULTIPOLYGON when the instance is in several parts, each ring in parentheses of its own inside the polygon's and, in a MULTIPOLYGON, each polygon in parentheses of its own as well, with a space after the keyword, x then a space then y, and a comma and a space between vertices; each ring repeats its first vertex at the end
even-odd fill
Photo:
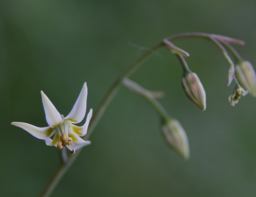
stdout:
MULTIPOLYGON (((188 31, 245 40, 235 46, 256 65, 256 1, 0 1, 0 196, 38 196, 60 163, 12 121, 46 127, 40 90, 69 113, 86 81, 87 111, 143 52, 166 36, 188 31)), ((187 132, 183 161, 160 133, 160 118, 143 98, 121 88, 90 140, 52 196, 255 196, 256 100, 232 107, 229 64, 208 40, 174 42, 207 93, 202 112, 186 97, 182 68, 165 49, 131 79, 163 90, 161 103, 187 132)))

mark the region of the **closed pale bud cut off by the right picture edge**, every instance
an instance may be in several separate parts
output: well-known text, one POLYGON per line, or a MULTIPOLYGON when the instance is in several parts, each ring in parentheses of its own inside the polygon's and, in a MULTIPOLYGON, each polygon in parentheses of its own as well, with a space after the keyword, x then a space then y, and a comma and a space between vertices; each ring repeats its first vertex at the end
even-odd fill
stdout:
POLYGON ((235 75, 240 85, 252 96, 256 96, 255 70, 249 61, 241 61, 235 66, 235 75))

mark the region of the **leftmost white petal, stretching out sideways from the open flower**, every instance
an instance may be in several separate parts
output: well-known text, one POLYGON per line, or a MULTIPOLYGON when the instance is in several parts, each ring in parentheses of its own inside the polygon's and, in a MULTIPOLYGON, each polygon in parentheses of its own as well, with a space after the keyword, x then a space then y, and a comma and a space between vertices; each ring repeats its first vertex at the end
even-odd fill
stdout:
POLYGON ((25 122, 12 122, 12 125, 15 125, 17 127, 20 127, 21 129, 24 129, 34 137, 41 140, 45 140, 51 137, 56 132, 56 129, 53 129, 51 127, 36 127, 32 124, 28 124, 25 122))

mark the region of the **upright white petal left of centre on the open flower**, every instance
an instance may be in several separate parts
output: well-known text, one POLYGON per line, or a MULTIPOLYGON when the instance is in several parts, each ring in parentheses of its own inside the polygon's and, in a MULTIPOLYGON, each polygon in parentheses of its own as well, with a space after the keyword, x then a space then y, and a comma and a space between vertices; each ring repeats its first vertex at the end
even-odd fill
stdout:
POLYGON ((45 93, 41 91, 41 94, 42 94, 42 101, 43 101, 43 106, 45 110, 46 121, 51 128, 55 128, 58 125, 62 124, 63 120, 60 116, 60 113, 54 107, 54 105, 51 103, 51 101, 48 99, 45 93))

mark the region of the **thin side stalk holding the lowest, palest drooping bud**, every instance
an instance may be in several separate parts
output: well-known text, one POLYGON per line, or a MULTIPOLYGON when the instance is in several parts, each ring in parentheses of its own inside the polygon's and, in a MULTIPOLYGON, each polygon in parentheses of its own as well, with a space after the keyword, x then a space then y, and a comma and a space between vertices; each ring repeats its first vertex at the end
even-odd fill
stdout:
POLYGON ((125 78, 123 80, 123 85, 128 89, 137 92, 140 95, 143 95, 158 111, 158 113, 162 116, 163 119, 170 118, 169 114, 165 110, 165 108, 161 105, 161 103, 148 91, 147 89, 140 86, 138 83, 132 81, 131 79, 125 78))

